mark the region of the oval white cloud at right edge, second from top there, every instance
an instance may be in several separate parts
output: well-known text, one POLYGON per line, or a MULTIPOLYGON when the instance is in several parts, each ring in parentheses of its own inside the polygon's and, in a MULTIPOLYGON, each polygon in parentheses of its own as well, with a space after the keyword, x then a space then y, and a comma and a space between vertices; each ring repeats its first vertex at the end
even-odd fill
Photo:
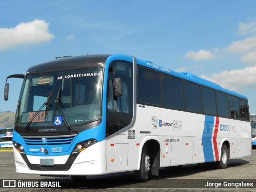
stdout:
POLYGON ((235 41, 230 44, 228 51, 230 52, 248 52, 256 48, 256 37, 248 37, 242 41, 235 41))

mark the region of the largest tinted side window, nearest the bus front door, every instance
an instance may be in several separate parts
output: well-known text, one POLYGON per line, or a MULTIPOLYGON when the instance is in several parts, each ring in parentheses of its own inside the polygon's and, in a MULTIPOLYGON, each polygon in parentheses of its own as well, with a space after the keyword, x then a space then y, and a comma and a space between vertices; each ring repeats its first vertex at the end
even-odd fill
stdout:
POLYGON ((162 105, 160 74, 139 67, 137 80, 139 102, 162 105))

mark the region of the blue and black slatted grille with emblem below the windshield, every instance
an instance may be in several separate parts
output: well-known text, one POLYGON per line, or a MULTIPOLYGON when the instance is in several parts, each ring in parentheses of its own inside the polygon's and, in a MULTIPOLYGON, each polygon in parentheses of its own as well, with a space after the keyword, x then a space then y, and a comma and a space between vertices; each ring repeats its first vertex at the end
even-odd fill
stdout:
POLYGON ((72 144, 76 135, 58 137, 22 137, 22 141, 27 145, 68 145, 72 144))

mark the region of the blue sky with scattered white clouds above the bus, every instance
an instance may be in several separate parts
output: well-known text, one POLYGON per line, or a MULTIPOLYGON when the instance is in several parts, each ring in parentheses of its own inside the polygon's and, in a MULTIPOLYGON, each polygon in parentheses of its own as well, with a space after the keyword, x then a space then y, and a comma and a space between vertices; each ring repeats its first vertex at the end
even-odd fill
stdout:
MULTIPOLYGON (((189 71, 249 98, 256 113, 256 1, 0 0, 5 78, 58 56, 122 53, 189 71)), ((0 111, 16 111, 11 78, 0 111)))

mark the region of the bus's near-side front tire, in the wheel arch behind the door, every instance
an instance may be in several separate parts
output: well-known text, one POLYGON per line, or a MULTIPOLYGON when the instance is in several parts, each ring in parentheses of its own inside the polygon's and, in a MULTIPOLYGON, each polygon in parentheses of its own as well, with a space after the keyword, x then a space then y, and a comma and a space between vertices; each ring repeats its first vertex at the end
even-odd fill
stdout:
POLYGON ((141 152, 140 169, 134 171, 134 178, 139 182, 146 182, 150 172, 150 157, 148 146, 144 145, 141 152))

